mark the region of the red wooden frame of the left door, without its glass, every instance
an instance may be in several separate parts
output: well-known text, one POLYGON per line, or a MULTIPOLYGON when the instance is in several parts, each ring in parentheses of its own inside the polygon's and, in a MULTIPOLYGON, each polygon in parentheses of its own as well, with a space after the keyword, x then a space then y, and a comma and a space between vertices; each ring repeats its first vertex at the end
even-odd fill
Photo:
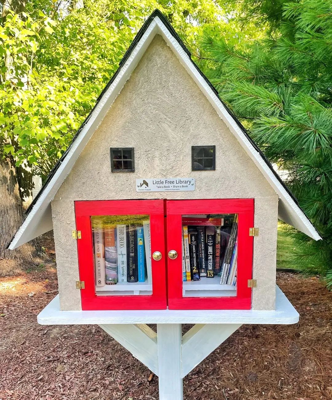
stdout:
POLYGON ((75 202, 76 229, 82 233, 77 240, 82 310, 163 310, 166 304, 166 256, 164 241, 164 200, 96 200, 75 202), (151 254, 160 251, 159 261, 152 258, 152 295, 97 296, 95 292, 91 216, 149 215, 151 254))

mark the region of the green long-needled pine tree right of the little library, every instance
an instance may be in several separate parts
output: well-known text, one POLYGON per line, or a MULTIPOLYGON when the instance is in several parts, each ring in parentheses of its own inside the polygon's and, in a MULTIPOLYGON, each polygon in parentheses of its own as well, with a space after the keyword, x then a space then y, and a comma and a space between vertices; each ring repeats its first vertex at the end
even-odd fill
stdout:
POLYGON ((264 38, 234 44, 206 37, 205 68, 266 156, 288 170, 286 183, 323 237, 293 232, 296 258, 331 286, 332 3, 272 3, 244 4, 244 21, 270 24, 264 38))

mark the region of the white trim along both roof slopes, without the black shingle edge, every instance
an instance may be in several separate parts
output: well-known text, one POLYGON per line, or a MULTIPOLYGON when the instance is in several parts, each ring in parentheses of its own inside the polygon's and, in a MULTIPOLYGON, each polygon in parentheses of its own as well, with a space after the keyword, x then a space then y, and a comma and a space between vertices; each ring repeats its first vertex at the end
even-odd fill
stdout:
POLYGON ((264 158, 254 148, 250 140, 248 140, 244 132, 242 132, 242 130, 236 124, 234 118, 219 100, 218 96, 216 96, 206 80, 195 68, 188 54, 186 54, 182 46, 180 46, 179 42, 176 40, 176 38, 174 38, 167 26, 165 26, 160 18, 156 16, 150 22, 150 25, 132 50, 130 56, 118 72, 118 75, 108 90, 106 90, 102 98, 99 100, 86 125, 78 134, 76 140, 72 143, 68 154, 66 154, 66 157, 52 176, 52 179, 46 188, 44 188, 44 191, 36 201, 36 204, 34 204, 32 207, 32 210, 27 215, 26 219, 16 232, 12 242, 8 247, 13 250, 29 240, 32 240, 37 236, 52 230, 53 226, 50 202, 54 198, 62 182, 64 182, 66 176, 69 174, 78 156, 90 140, 91 136, 94 134, 95 130, 98 128, 100 122, 103 120, 106 112, 112 106, 112 103, 120 93, 124 84, 130 78, 130 75, 136 68, 138 62, 142 58, 144 52, 156 34, 162 35, 188 74, 190 74, 200 90, 212 104, 220 118, 226 123, 230 131, 236 136, 244 150, 265 176, 266 180, 268 180, 272 188, 274 188, 276 193, 278 193, 280 197, 279 218, 294 226, 298 230, 304 232, 311 238, 315 240, 321 239, 310 220, 306 217, 296 202, 294 202, 292 197, 288 194, 276 176, 274 176, 264 158))

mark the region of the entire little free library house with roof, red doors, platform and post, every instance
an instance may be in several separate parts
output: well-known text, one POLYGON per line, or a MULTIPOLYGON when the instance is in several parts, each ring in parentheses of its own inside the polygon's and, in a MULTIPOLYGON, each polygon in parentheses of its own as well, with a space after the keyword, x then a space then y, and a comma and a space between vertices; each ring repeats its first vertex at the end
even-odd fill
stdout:
POLYGON ((98 324, 181 400, 242 324, 298 322, 276 286, 278 218, 321 239, 156 10, 9 248, 53 229, 59 294, 38 322, 98 324))

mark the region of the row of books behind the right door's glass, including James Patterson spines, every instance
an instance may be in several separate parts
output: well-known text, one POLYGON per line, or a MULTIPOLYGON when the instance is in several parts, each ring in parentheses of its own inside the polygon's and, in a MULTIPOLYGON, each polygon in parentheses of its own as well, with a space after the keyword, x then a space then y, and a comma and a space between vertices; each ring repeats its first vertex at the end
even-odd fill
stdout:
POLYGON ((182 218, 182 280, 220 276, 220 284, 236 285, 238 215, 182 218))

